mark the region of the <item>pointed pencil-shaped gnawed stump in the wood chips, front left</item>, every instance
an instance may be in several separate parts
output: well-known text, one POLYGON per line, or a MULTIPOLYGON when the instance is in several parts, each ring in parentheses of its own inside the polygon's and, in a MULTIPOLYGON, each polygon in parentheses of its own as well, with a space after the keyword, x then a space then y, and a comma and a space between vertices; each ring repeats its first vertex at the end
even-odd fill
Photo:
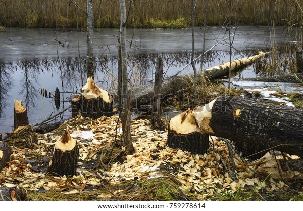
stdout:
POLYGON ((55 150, 51 162, 49 162, 48 174, 54 176, 76 175, 79 157, 79 148, 68 129, 56 141, 55 150))

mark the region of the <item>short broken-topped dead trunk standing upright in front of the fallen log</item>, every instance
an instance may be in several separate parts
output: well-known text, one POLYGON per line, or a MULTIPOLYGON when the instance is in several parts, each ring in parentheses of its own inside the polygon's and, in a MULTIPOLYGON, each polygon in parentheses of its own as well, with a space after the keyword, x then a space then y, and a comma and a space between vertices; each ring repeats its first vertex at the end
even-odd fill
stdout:
POLYGON ((156 72, 155 72, 155 85, 153 97, 153 112, 151 113, 151 124, 157 128, 162 128, 161 125, 161 87, 163 77, 163 62, 161 57, 158 58, 156 72))

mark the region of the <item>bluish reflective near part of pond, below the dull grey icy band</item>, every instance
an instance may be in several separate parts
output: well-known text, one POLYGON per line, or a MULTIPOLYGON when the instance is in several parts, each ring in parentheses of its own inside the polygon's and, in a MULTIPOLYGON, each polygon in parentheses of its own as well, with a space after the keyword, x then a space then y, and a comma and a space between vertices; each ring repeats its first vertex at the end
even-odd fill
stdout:
MULTIPOLYGON (((234 52, 232 59, 251 56, 255 53, 256 52, 252 51, 234 52)), ((200 52, 195 53, 195 57, 199 55, 200 52)), ((190 63, 191 53, 185 51, 179 53, 153 53, 129 56, 129 85, 137 86, 152 82, 157 58, 159 56, 164 63, 164 77, 169 77, 190 63)), ((205 61, 203 68, 215 66, 223 61, 226 62, 229 60, 228 57, 228 52, 210 51, 204 56, 205 61)), ((118 58, 114 56, 96 57, 94 59, 96 64, 95 81, 97 85, 105 90, 116 89, 118 58)), ((24 101, 25 106, 29 110, 30 123, 41 122, 52 112, 58 112, 55 110, 54 99, 42 97, 39 94, 39 88, 46 89, 54 95, 58 87, 61 92, 63 90, 64 93, 67 93, 64 95, 65 99, 61 99, 61 101, 68 101, 73 94, 79 93, 83 84, 86 83, 86 72, 81 72, 81 70, 86 69, 85 62, 85 57, 75 57, 2 63, 0 66, 0 111, 6 109, 6 113, 9 115, 7 117, 8 119, 1 117, 0 121, 4 124, 6 124, 5 122, 13 121, 13 107, 10 106, 13 105, 11 102, 14 99, 22 99, 24 101), (62 74, 60 69, 62 69, 62 74), (62 88, 61 81, 63 81, 64 89, 62 88), (14 86, 14 90, 11 90, 12 86, 14 86), (10 95, 12 98, 9 97, 10 95), (9 99, 10 102, 7 103, 9 99)), ((196 67, 200 67, 200 60, 196 61, 196 67)), ((189 72, 192 72, 190 66, 181 72, 181 74, 189 72)), ((65 117, 70 117, 70 114, 65 117)), ((8 131, 8 128, 9 126, 2 125, 0 132, 8 131)))

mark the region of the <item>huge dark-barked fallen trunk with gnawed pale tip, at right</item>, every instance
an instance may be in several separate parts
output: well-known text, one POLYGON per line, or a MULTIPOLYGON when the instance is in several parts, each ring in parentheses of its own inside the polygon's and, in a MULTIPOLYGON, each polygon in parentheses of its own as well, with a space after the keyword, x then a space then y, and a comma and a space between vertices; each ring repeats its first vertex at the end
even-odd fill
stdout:
POLYGON ((247 143, 250 147, 242 150, 244 157, 260 152, 254 155, 260 158, 271 148, 303 156, 300 108, 229 96, 194 110, 193 116, 204 134, 247 143))

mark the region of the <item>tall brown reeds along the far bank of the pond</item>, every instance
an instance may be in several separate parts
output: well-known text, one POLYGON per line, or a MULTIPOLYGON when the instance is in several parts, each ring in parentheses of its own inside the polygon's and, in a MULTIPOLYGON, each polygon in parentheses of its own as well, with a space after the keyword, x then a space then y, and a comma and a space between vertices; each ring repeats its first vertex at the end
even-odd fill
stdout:
MULTIPOLYGON (((84 11, 86 1, 74 0, 84 11)), ((232 1, 231 16, 233 24, 255 25, 302 25, 302 11, 298 4, 301 0, 238 0, 232 1)), ((95 27, 118 27, 120 19, 118 0, 94 1, 95 27)), ((126 1, 127 8, 130 1, 126 1)), ((226 25, 227 8, 225 0, 208 1, 207 25, 226 25)), ((301 4, 302 5, 302 4, 301 4)), ((86 27, 85 14, 68 0, 41 1, 41 0, 2 0, 0 1, 0 25, 6 27, 28 28, 75 28, 77 14, 79 27, 86 27)), ((191 6, 188 0, 143 0, 132 1, 128 18, 128 27, 184 27, 190 24, 191 6), (169 24, 175 20, 182 20, 180 26, 169 24)), ((196 26, 204 22, 204 1, 197 1, 196 26)))

